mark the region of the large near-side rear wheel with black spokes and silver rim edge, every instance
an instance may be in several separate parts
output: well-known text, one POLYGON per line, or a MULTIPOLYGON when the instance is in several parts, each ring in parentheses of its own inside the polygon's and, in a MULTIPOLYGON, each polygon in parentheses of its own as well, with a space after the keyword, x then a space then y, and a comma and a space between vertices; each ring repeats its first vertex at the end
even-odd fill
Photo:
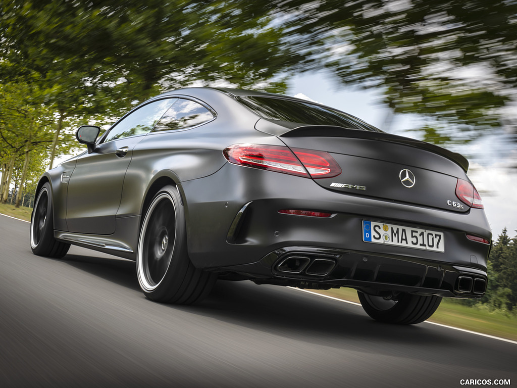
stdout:
POLYGON ((144 295, 155 302, 200 302, 214 286, 217 275, 198 270, 188 257, 185 214, 174 186, 162 188, 145 214, 136 273, 144 295))

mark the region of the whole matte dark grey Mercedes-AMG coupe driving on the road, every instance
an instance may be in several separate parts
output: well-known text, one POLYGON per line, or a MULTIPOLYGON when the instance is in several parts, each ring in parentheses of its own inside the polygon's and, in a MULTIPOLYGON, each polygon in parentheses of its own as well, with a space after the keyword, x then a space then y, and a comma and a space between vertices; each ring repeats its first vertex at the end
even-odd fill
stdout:
POLYGON ((190 304, 217 278, 351 287, 413 324, 481 297, 492 233, 467 160, 317 103, 184 88, 142 103, 45 172, 31 247, 136 261, 148 299, 190 304))

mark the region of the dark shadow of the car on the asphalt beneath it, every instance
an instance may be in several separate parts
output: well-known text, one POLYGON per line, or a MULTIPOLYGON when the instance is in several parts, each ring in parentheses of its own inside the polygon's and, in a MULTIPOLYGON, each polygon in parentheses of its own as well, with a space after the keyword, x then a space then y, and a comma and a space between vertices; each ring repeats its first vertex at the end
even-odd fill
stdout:
MULTIPOLYGON (((132 261, 108 255, 97 257, 73 253, 63 260, 82 271, 140 291, 132 261)), ((134 297, 134 293, 130 294, 128 297, 134 297)), ((140 295, 144 298, 143 294, 140 295)), ((500 349, 493 345, 493 340, 481 339, 485 347, 480 347, 479 339, 474 341, 473 335, 459 334, 428 323, 383 324, 369 318, 360 306, 279 286, 257 286, 250 281, 219 280, 211 294, 200 304, 162 306, 165 316, 179 310, 280 338, 331 348, 360 349, 363 353, 400 355, 402 359, 407 354, 416 354, 421 361, 470 367, 479 360, 480 354, 485 364, 491 364, 491 353, 494 354, 493 360, 500 360, 501 357, 500 349)), ((508 357, 512 357, 509 347, 508 357)), ((497 364, 491 367, 508 371, 497 364)))

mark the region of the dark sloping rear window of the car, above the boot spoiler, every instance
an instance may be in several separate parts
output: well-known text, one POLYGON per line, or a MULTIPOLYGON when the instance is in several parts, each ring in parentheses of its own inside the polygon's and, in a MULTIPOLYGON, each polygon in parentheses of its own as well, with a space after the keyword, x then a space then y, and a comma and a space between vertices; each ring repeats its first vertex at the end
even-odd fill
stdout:
POLYGON ((309 125, 337 125, 350 129, 382 132, 357 117, 306 101, 264 96, 240 96, 237 99, 259 116, 271 120, 309 125))

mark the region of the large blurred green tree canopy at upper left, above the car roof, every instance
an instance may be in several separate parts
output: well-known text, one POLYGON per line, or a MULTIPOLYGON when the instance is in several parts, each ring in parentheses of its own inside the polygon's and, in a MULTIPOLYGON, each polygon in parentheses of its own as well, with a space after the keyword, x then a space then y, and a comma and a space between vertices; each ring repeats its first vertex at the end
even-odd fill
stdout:
POLYGON ((57 139, 67 116, 127 110, 163 88, 282 91, 278 74, 298 55, 272 17, 244 0, 4 2, 0 57, 9 66, 0 72, 4 79, 38 74, 33 81, 56 112, 57 139))

